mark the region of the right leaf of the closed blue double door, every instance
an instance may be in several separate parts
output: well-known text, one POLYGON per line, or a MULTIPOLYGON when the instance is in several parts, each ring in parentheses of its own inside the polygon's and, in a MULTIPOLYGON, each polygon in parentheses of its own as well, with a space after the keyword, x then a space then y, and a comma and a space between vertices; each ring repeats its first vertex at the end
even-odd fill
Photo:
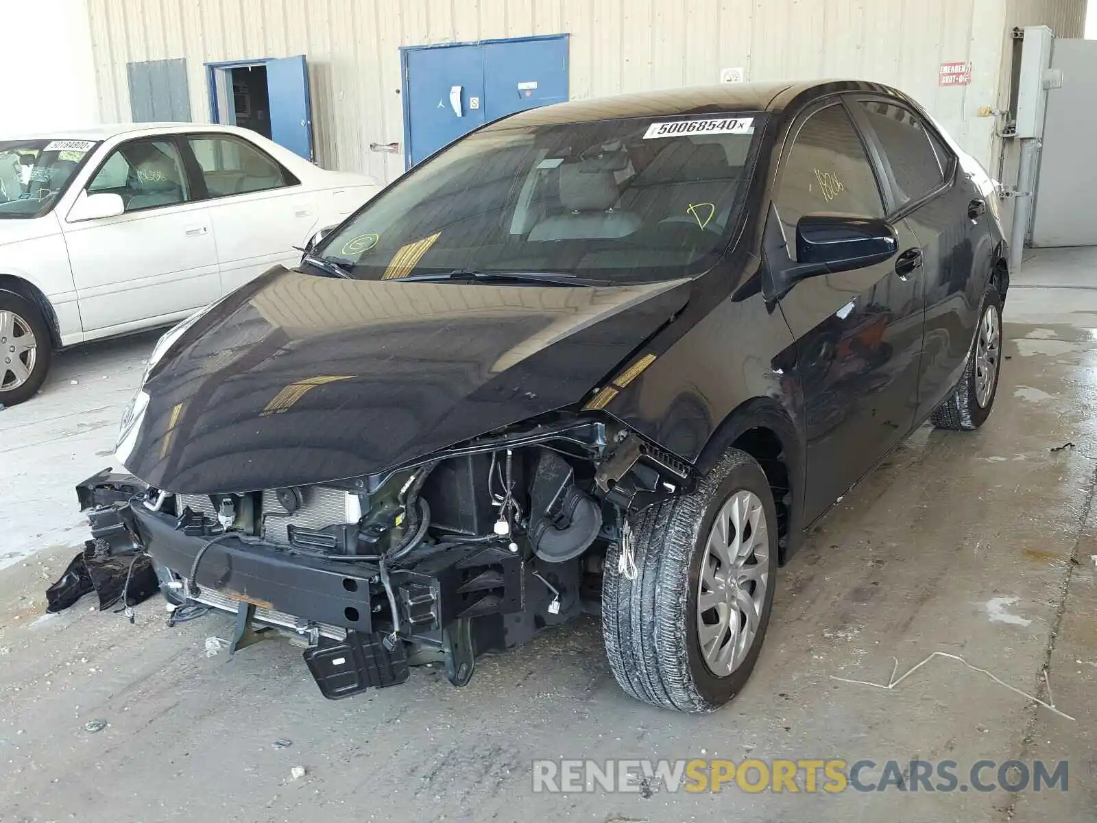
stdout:
POLYGON ((484 117, 567 100, 567 36, 484 46, 484 117))

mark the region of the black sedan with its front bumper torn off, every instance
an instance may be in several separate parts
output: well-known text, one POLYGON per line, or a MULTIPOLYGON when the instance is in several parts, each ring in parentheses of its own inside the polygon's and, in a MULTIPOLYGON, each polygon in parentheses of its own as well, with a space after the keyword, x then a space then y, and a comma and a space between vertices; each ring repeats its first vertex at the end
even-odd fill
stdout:
POLYGON ((710 711, 811 525, 986 420, 1006 259, 993 181, 886 87, 521 112, 165 335, 81 505, 328 698, 586 612, 625 691, 710 711))

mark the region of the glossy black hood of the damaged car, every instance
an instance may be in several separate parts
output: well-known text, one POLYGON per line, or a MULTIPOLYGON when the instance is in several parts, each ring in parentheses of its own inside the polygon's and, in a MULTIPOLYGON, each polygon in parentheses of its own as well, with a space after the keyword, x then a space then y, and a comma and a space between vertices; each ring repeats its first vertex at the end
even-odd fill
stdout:
POLYGON ((278 267, 156 362, 123 462, 190 494, 375 474, 581 401, 689 289, 357 281, 278 267))

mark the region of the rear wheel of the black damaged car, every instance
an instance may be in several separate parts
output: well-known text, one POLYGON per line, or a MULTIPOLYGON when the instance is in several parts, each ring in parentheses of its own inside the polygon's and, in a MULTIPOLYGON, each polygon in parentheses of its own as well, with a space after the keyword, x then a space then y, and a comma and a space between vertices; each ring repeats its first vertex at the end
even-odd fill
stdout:
POLYGON ((1002 295, 987 286, 968 365, 952 394, 934 412, 938 429, 974 431, 991 416, 1002 372, 1002 295))

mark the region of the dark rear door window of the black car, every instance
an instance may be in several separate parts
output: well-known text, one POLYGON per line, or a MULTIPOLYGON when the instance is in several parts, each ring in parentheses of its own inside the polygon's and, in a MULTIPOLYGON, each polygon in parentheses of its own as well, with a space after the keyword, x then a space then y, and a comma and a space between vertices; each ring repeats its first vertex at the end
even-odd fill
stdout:
POLYGON ((902 207, 920 200, 945 182, 948 159, 943 146, 935 147, 936 138, 909 109, 882 100, 859 100, 853 103, 864 113, 884 153, 890 168, 889 184, 895 205, 902 207))

